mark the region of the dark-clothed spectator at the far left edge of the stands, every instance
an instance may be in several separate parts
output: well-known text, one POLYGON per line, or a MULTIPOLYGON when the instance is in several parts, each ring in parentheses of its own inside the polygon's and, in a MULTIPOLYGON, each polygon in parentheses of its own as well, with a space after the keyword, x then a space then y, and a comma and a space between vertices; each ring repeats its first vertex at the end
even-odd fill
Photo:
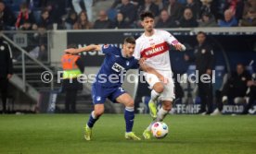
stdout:
POLYGON ((12 11, 0 1, 0 30, 9 30, 14 27, 15 17, 12 11))

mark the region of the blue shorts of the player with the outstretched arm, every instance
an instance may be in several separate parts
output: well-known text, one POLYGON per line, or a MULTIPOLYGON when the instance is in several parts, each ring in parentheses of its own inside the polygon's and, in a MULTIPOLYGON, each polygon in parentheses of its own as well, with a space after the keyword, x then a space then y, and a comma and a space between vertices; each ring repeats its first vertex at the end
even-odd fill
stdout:
POLYGON ((107 88, 100 84, 94 83, 92 86, 92 98, 94 104, 102 104, 108 98, 112 102, 117 102, 116 99, 126 93, 122 87, 107 88))

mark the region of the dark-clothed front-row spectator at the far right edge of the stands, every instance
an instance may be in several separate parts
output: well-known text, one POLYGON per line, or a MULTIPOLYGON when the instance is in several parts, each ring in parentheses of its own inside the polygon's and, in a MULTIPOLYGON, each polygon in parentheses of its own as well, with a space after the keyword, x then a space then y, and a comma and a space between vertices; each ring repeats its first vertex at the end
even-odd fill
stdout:
POLYGON ((256 26, 256 11, 251 7, 247 15, 241 19, 240 26, 256 26))

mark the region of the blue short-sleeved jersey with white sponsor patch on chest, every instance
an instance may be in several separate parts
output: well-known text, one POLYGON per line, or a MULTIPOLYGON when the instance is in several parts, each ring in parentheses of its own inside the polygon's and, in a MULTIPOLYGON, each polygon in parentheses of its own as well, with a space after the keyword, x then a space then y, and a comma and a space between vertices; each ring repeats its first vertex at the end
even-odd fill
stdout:
POLYGON ((126 71, 139 67, 138 60, 125 58, 122 50, 114 45, 103 45, 102 52, 106 54, 103 64, 96 75, 96 84, 102 87, 120 87, 126 71))

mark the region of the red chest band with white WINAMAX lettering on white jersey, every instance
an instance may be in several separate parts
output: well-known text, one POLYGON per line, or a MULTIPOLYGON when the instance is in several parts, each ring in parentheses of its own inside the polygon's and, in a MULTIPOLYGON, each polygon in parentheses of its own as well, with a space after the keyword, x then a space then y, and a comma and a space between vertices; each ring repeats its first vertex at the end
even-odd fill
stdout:
POLYGON ((159 55, 161 53, 165 53, 169 50, 169 46, 167 44, 167 42, 162 42, 160 44, 157 44, 155 46, 151 46, 147 49, 144 49, 142 52, 141 52, 141 55, 142 57, 152 57, 152 56, 156 56, 156 55, 159 55))

